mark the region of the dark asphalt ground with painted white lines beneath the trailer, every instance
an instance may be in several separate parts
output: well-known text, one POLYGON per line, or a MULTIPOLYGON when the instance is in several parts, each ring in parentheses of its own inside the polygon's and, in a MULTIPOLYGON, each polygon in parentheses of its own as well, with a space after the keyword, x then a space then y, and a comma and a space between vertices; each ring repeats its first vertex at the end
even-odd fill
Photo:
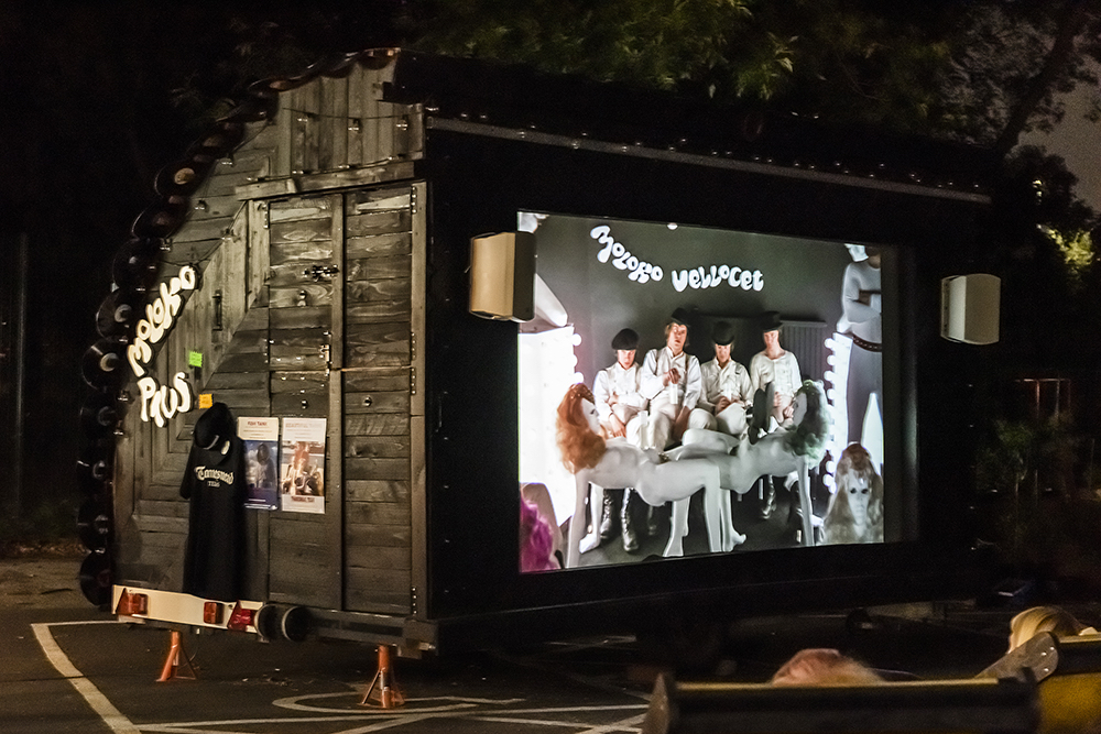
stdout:
MULTIPOLYGON (((661 671, 764 682, 799 649, 833 647, 891 675, 970 678, 1003 654, 1017 611, 951 602, 733 621, 706 665, 632 637, 395 659, 404 705, 383 710, 361 705, 377 653, 352 644, 185 634, 198 678, 157 682, 170 633, 89 605, 78 567, 78 557, 0 559, 3 732, 636 732, 661 671)), ((1099 610, 1072 611, 1094 623, 1099 610)))

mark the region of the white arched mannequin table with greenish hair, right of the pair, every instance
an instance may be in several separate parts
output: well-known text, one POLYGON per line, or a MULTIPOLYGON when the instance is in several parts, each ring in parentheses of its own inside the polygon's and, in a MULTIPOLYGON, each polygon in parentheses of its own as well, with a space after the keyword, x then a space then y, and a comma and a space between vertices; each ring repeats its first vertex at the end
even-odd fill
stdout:
MULTIPOLYGON (((810 467, 821 461, 829 435, 825 405, 821 386, 807 380, 795 394, 791 427, 766 434, 756 443, 713 430, 690 429, 685 431, 683 445, 667 456, 677 461, 706 459, 713 462, 719 468, 722 489, 739 494, 749 492, 759 476, 797 472, 804 507, 803 541, 810 546, 814 545, 814 526, 809 473, 810 467)), ((726 526, 729 519, 722 517, 719 522, 726 526)))

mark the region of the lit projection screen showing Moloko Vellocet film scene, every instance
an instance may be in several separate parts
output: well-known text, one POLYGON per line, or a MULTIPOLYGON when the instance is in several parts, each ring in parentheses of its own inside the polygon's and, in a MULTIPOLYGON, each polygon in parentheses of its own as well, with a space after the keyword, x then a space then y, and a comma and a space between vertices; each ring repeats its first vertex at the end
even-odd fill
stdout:
POLYGON ((519 220, 537 249, 517 337, 522 572, 905 539, 884 524, 902 503, 884 460, 898 249, 519 220))

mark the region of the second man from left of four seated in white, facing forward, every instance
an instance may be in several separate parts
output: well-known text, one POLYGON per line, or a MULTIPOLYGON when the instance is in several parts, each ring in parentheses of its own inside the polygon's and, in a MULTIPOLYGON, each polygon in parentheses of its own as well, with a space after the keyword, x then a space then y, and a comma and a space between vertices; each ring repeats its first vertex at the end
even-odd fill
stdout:
POLYGON ((699 360, 685 352, 688 314, 678 308, 665 325, 665 347, 646 352, 642 364, 642 395, 650 399, 646 448, 664 450, 679 441, 688 416, 704 391, 699 360))

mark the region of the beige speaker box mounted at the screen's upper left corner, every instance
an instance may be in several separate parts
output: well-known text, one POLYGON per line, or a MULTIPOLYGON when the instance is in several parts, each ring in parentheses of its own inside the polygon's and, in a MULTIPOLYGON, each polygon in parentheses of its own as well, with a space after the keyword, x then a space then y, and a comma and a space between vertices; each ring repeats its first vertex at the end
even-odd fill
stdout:
POLYGON ((470 240, 470 313, 530 321, 535 316, 535 235, 500 232, 470 240))

